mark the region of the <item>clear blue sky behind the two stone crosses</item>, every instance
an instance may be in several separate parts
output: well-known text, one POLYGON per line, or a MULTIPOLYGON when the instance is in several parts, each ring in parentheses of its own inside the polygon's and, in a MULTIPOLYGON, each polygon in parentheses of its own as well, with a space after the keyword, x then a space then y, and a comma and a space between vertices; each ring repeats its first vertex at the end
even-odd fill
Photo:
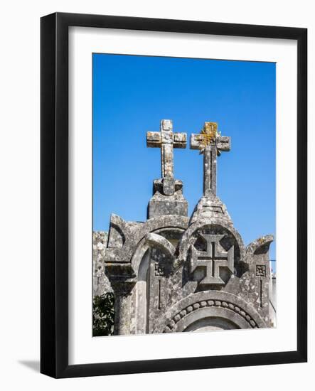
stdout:
MULTIPOLYGON (((218 158, 218 195, 245 245, 275 234, 275 63, 95 53, 92 65, 94 230, 108 230, 111 213, 146 220, 161 177, 160 149, 146 148, 146 132, 172 119, 188 138, 218 122, 232 139, 218 158)), ((202 155, 175 149, 174 172, 191 215, 203 191, 202 155)))

